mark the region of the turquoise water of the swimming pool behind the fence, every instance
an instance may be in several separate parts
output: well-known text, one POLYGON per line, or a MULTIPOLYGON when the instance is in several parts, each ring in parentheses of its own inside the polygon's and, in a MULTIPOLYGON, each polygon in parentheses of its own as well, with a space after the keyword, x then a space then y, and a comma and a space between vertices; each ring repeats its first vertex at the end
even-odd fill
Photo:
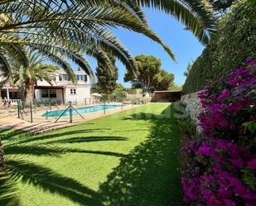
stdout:
MULTIPOLYGON (((94 113, 94 112, 98 112, 98 111, 103 111, 104 108, 110 109, 110 108, 120 108, 120 107, 121 107, 121 105, 106 104, 106 105, 94 105, 94 106, 89 106, 89 107, 84 107, 84 108, 75 108, 75 109, 80 114, 85 114, 85 113, 94 113)), ((72 114, 78 115, 78 113, 76 113, 75 109, 72 109, 72 114)), ((47 112, 47 113, 44 113, 41 117, 60 117, 60 115, 62 113, 64 113, 64 111, 65 111, 65 109, 47 112)), ((70 115, 69 109, 63 114, 63 116, 67 116, 67 115, 70 115)))

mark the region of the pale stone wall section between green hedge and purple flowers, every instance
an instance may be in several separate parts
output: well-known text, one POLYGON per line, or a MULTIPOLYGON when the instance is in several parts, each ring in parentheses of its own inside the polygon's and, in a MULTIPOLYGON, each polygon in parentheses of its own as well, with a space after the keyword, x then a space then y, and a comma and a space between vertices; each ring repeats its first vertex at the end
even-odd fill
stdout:
POLYGON ((181 102, 186 104, 186 112, 189 113, 191 119, 193 119, 196 124, 199 123, 198 115, 203 110, 200 103, 200 98, 198 98, 198 93, 188 93, 181 97, 181 102))

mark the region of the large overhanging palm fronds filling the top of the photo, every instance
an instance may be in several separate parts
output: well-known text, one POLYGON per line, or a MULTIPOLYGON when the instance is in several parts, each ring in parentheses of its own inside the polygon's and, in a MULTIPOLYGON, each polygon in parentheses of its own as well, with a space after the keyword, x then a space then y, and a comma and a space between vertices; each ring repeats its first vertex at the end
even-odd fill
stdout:
MULTIPOLYGON (((2 0, 0 14, 8 21, 0 25, 0 47, 24 44, 56 61, 57 54, 67 55, 71 50, 69 57, 75 61, 80 61, 80 52, 109 64, 102 49, 111 50, 128 69, 134 69, 132 56, 109 31, 109 26, 122 26, 157 41, 175 59, 169 47, 150 30, 141 7, 170 13, 203 43, 209 41, 215 29, 212 8, 203 0, 2 0)), ((0 55, 5 65, 5 56, 0 55)))

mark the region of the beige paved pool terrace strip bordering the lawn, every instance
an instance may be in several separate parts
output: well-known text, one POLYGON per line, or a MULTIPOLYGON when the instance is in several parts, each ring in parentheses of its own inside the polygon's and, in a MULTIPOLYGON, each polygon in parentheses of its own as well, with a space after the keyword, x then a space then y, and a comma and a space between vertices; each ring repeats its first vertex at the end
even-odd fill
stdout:
POLYGON ((104 111, 99 111, 95 113, 86 113, 82 116, 85 118, 83 119, 79 115, 73 116, 73 122, 69 122, 69 117, 60 117, 60 120, 56 122, 56 117, 41 117, 45 111, 41 111, 38 113, 33 114, 33 123, 29 122, 30 117, 24 117, 26 120, 19 119, 17 117, 2 117, 0 118, 0 130, 6 128, 17 128, 27 132, 34 132, 34 133, 43 133, 43 132, 51 132, 52 130, 63 128, 63 127, 70 127, 81 122, 87 122, 89 120, 108 116, 114 113, 119 113, 122 111, 126 111, 131 108, 137 108, 137 105, 125 105, 123 108, 112 108, 107 109, 106 113, 104 111))

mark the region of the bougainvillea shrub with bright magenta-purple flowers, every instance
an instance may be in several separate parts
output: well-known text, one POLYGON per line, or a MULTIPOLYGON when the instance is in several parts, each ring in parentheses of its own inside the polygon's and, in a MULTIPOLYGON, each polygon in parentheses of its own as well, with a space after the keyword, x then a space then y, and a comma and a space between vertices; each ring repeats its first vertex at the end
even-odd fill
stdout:
POLYGON ((195 206, 256 205, 256 63, 247 60, 199 94, 202 132, 181 149, 181 183, 195 206))

